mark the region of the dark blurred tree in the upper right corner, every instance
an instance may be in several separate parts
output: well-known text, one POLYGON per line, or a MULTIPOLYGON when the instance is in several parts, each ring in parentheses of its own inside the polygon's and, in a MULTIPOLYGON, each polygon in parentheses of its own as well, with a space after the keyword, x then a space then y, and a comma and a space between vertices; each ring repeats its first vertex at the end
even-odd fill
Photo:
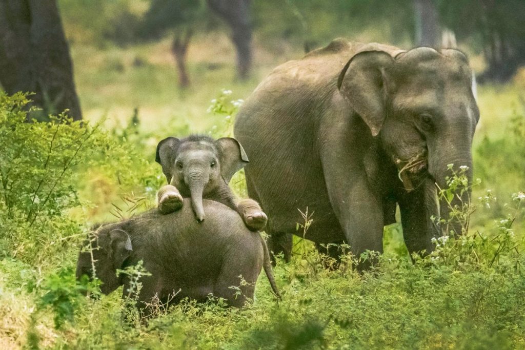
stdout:
POLYGON ((440 0, 442 21, 482 50, 482 80, 506 81, 525 64, 524 0, 440 0))

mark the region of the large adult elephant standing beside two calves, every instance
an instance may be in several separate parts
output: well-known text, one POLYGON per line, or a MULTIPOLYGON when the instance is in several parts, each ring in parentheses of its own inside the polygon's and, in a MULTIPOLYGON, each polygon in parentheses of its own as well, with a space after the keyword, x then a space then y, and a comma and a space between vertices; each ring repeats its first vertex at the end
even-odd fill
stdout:
MULTIPOLYGON (((318 248, 348 242, 354 254, 382 252, 398 204, 409 252, 433 250, 440 232, 430 216, 449 213, 436 184, 446 187, 448 164, 469 167, 471 179, 479 119, 471 82, 458 50, 342 39, 272 71, 234 131, 251 160, 248 194, 268 215, 269 249, 290 259, 298 209, 308 207, 305 237, 318 248)), ((451 228, 460 231, 458 222, 451 228)))

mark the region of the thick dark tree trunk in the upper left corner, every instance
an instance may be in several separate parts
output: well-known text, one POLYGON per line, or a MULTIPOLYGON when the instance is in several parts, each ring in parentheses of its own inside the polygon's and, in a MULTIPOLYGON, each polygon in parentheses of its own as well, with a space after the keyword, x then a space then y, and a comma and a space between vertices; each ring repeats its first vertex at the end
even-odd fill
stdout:
POLYGON ((9 94, 35 92, 46 114, 82 119, 56 0, 0 0, 0 83, 9 94))

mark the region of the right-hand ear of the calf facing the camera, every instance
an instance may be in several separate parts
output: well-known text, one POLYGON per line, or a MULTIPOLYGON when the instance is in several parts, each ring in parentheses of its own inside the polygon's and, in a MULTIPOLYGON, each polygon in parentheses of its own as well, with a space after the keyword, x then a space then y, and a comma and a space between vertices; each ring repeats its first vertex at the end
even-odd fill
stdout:
POLYGON ((220 175, 229 183, 232 176, 249 163, 248 156, 233 137, 222 137, 215 143, 219 149, 220 175))

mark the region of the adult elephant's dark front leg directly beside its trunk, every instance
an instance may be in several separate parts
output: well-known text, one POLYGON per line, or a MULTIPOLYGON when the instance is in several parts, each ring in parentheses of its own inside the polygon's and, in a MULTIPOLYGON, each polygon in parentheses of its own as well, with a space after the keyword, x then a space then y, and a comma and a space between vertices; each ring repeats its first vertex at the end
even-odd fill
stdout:
POLYGON ((426 253, 434 249, 432 238, 437 237, 439 229, 430 216, 438 216, 436 187, 429 179, 410 193, 401 196, 399 201, 403 238, 408 252, 426 253))

